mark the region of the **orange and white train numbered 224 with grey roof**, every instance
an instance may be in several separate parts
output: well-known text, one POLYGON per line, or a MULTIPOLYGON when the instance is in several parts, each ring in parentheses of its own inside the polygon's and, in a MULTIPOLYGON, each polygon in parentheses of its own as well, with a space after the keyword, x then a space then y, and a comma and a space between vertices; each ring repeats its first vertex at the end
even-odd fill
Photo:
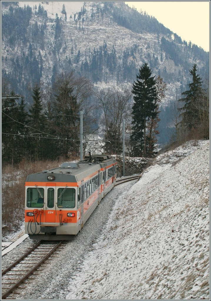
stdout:
POLYGON ((89 155, 79 162, 28 175, 25 233, 31 239, 71 240, 115 186, 117 162, 111 155, 89 155))

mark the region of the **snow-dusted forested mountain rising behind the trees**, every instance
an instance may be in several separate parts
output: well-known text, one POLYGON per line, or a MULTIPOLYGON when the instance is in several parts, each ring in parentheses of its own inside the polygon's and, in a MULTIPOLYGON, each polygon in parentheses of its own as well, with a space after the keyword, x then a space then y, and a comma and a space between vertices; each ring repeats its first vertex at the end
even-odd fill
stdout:
POLYGON ((13 89, 30 103, 36 82, 46 91, 72 69, 96 89, 131 90, 145 62, 167 83, 163 107, 186 90, 194 63, 202 78, 209 74, 208 52, 124 2, 2 2, 5 94, 13 89))

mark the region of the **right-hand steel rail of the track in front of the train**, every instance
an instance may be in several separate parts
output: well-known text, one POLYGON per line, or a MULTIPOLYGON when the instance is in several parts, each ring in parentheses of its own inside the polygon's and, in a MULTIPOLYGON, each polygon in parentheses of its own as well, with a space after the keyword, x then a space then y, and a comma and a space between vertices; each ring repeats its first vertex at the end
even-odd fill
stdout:
POLYGON ((2 294, 2 299, 8 297, 17 287, 19 287, 30 275, 32 275, 43 262, 45 262, 57 248, 62 244, 62 240, 43 258, 41 259, 29 272, 26 273, 20 280, 18 280, 10 289, 2 294))

